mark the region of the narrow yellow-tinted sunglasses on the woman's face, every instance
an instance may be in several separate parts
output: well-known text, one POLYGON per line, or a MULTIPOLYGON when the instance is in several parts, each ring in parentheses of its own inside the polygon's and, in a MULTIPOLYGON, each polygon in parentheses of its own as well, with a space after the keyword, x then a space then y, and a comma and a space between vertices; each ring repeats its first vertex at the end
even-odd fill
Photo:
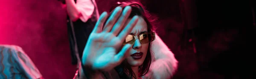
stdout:
POLYGON ((140 34, 139 37, 135 37, 134 35, 129 34, 122 45, 131 44, 133 45, 135 40, 139 39, 141 44, 152 42, 155 40, 155 32, 147 32, 140 34))

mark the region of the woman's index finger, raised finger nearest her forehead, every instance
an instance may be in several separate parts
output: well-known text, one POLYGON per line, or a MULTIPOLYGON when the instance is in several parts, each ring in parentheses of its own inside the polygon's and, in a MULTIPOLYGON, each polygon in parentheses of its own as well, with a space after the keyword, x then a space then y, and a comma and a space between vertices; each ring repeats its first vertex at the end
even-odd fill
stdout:
POLYGON ((131 30, 134 28, 136 23, 138 22, 139 17, 136 15, 134 16, 131 21, 128 23, 128 25, 125 26, 125 28, 120 32, 120 34, 117 36, 121 41, 125 40, 125 37, 130 34, 131 30))

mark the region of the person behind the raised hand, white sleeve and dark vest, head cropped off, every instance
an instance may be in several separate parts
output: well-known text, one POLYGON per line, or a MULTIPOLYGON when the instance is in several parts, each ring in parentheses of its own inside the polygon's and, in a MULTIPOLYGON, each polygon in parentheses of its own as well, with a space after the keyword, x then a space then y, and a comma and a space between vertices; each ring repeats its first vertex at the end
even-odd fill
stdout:
POLYGON ((62 0, 67 6, 67 29, 72 64, 80 62, 84 46, 99 18, 95 0, 62 0))

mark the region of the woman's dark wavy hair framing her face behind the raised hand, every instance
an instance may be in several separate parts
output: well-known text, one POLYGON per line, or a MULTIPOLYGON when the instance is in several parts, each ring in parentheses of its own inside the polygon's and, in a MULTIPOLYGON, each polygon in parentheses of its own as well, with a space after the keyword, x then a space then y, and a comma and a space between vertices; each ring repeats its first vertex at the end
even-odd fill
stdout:
MULTIPOLYGON (((156 19, 151 18, 151 15, 149 14, 149 12, 145 10, 145 7, 140 2, 138 2, 138 1, 130 1, 130 2, 122 2, 122 3, 118 2, 118 4, 113 5, 113 7, 111 8, 111 12, 108 14, 108 18, 112 14, 113 9, 116 8, 117 6, 122 7, 122 9, 124 9, 125 6, 131 6, 131 14, 129 15, 128 18, 132 18, 135 15, 137 15, 139 17, 143 17, 143 19, 145 20, 145 22, 147 24, 148 32, 155 30, 154 25, 152 25, 152 23, 154 23, 154 21, 156 19)), ((145 60, 144 60, 143 64, 139 66, 139 75, 138 76, 141 77, 141 76, 144 76, 146 73, 148 73, 148 70, 149 70, 151 62, 152 62, 152 55, 153 55, 153 52, 151 51, 151 43, 149 43, 148 52, 145 57, 145 60)), ((119 76, 122 79, 132 79, 133 77, 136 79, 135 73, 131 69, 131 65, 129 65, 126 60, 124 62, 122 62, 119 66, 117 66, 115 68, 115 70, 119 73, 119 76), (127 74, 125 74, 125 73, 128 73, 129 75, 127 76, 127 74)))

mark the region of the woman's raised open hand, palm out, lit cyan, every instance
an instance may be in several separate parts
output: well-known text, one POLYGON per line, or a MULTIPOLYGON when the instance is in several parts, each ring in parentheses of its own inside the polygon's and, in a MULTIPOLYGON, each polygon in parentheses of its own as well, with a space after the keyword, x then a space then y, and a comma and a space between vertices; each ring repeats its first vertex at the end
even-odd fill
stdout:
POLYGON ((82 64, 89 65, 93 70, 108 71, 119 65, 129 54, 131 45, 125 45, 121 51, 122 42, 131 32, 138 21, 134 16, 126 25, 125 22, 131 13, 131 7, 127 6, 122 10, 116 7, 108 18, 104 28, 103 24, 107 19, 107 12, 103 12, 90 34, 82 56, 82 64))

